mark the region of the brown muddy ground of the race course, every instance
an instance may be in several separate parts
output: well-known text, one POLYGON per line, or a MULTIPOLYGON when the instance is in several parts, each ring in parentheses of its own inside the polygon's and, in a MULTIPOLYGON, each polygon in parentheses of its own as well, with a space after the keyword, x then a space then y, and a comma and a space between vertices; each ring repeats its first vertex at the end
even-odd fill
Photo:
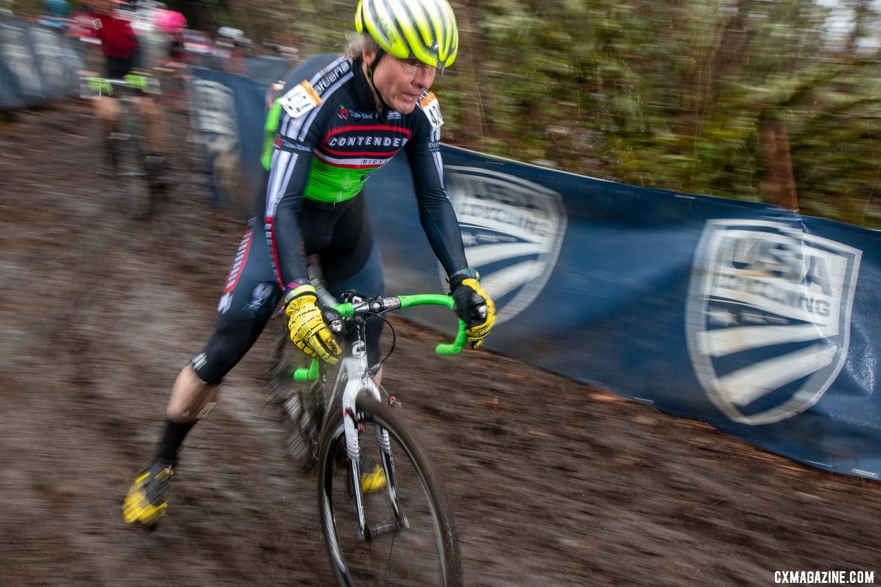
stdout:
MULTIPOLYGON (((331 584, 315 480, 285 457, 267 401, 269 336, 185 442, 159 529, 122 522, 243 225, 207 200, 182 135, 174 193, 129 219, 95 173, 96 137, 78 101, 0 126, 0 584, 331 584)), ((450 368, 435 333, 396 324, 386 382, 432 433, 468 584, 881 572, 881 484, 492 353, 450 368)))

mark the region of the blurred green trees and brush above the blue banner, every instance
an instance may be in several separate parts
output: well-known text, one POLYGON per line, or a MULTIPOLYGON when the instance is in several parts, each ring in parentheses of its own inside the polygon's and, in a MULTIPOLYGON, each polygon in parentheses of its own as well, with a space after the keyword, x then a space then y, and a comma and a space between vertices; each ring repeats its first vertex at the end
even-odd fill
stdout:
MULTIPOLYGON (((460 53, 435 82, 449 143, 881 227, 877 0, 451 3, 460 53)), ((357 2, 166 4, 307 56, 344 48, 357 2)))

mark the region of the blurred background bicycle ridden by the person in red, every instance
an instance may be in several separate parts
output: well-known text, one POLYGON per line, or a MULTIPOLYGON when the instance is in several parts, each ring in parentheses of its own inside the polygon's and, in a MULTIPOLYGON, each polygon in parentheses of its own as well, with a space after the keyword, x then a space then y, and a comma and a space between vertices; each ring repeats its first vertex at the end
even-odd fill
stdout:
POLYGON ((162 189, 159 178, 145 163, 145 122, 137 108, 139 97, 144 92, 158 93, 157 86, 158 81, 154 78, 137 74, 129 74, 122 79, 89 75, 81 78, 82 97, 97 99, 102 95, 116 95, 122 105, 115 129, 107 139, 122 197, 128 202, 129 213, 135 219, 144 219, 150 214, 151 195, 159 194, 162 189))

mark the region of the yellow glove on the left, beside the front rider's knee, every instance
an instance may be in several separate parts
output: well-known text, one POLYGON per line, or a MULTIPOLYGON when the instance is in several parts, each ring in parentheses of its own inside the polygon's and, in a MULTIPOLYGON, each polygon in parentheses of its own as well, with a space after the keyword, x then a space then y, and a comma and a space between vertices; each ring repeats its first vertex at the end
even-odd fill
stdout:
POLYGON ((291 333, 293 344, 300 351, 336 365, 337 357, 334 355, 341 353, 341 349, 328 325, 324 323, 317 301, 315 287, 310 285, 299 286, 288 292, 285 295, 287 330, 291 333))

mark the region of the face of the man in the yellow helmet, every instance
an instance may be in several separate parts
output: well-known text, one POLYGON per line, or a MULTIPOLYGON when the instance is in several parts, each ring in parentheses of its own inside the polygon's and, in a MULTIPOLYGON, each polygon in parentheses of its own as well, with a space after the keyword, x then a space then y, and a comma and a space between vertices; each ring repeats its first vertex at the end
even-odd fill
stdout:
MULTIPOLYGON (((364 53, 364 63, 374 63, 376 54, 364 53)), ((434 83, 433 67, 417 59, 398 59, 384 55, 374 67, 374 84, 391 108, 401 114, 410 114, 416 102, 434 83)))

